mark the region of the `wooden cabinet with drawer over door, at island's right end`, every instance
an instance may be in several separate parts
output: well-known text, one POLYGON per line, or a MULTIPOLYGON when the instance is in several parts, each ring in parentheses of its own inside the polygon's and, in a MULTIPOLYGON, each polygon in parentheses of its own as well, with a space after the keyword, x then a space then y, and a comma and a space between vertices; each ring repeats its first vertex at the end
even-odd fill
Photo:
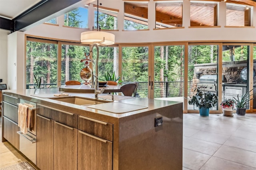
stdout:
POLYGON ((113 125, 78 117, 78 170, 112 170, 113 125))

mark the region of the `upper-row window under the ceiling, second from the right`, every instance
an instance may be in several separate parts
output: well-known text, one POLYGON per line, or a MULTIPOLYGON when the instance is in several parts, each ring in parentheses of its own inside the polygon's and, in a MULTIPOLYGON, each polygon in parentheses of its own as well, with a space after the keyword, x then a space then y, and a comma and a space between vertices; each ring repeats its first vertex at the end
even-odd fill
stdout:
POLYGON ((217 4, 191 2, 190 26, 217 26, 217 4))

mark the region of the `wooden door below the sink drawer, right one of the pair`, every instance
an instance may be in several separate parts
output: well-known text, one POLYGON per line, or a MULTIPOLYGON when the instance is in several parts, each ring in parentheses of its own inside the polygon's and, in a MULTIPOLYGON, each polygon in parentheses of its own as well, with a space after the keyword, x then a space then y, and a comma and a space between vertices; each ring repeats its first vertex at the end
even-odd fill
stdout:
POLYGON ((77 169, 77 129, 54 121, 54 169, 77 169))

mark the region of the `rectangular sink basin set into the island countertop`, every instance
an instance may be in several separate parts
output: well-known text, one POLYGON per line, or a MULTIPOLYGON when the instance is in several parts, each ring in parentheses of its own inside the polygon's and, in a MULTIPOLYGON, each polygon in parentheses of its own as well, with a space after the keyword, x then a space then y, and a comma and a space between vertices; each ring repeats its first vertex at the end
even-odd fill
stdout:
POLYGON ((87 106, 87 105, 92 105, 92 104, 103 104, 107 103, 107 101, 99 101, 99 100, 94 100, 94 99, 89 99, 89 98, 81 98, 77 96, 71 96, 71 97, 61 97, 61 98, 51 98, 53 100, 58 100, 61 102, 67 102, 71 104, 76 104, 80 106, 87 106))

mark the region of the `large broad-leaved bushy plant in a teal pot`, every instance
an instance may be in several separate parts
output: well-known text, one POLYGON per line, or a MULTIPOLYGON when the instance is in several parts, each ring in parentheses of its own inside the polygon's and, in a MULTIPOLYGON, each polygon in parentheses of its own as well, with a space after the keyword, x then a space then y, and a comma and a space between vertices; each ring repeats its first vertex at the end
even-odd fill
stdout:
POLYGON ((209 116, 209 109, 217 103, 218 97, 212 92, 202 91, 201 88, 196 88, 194 94, 188 100, 188 104, 199 107, 200 116, 209 116))

